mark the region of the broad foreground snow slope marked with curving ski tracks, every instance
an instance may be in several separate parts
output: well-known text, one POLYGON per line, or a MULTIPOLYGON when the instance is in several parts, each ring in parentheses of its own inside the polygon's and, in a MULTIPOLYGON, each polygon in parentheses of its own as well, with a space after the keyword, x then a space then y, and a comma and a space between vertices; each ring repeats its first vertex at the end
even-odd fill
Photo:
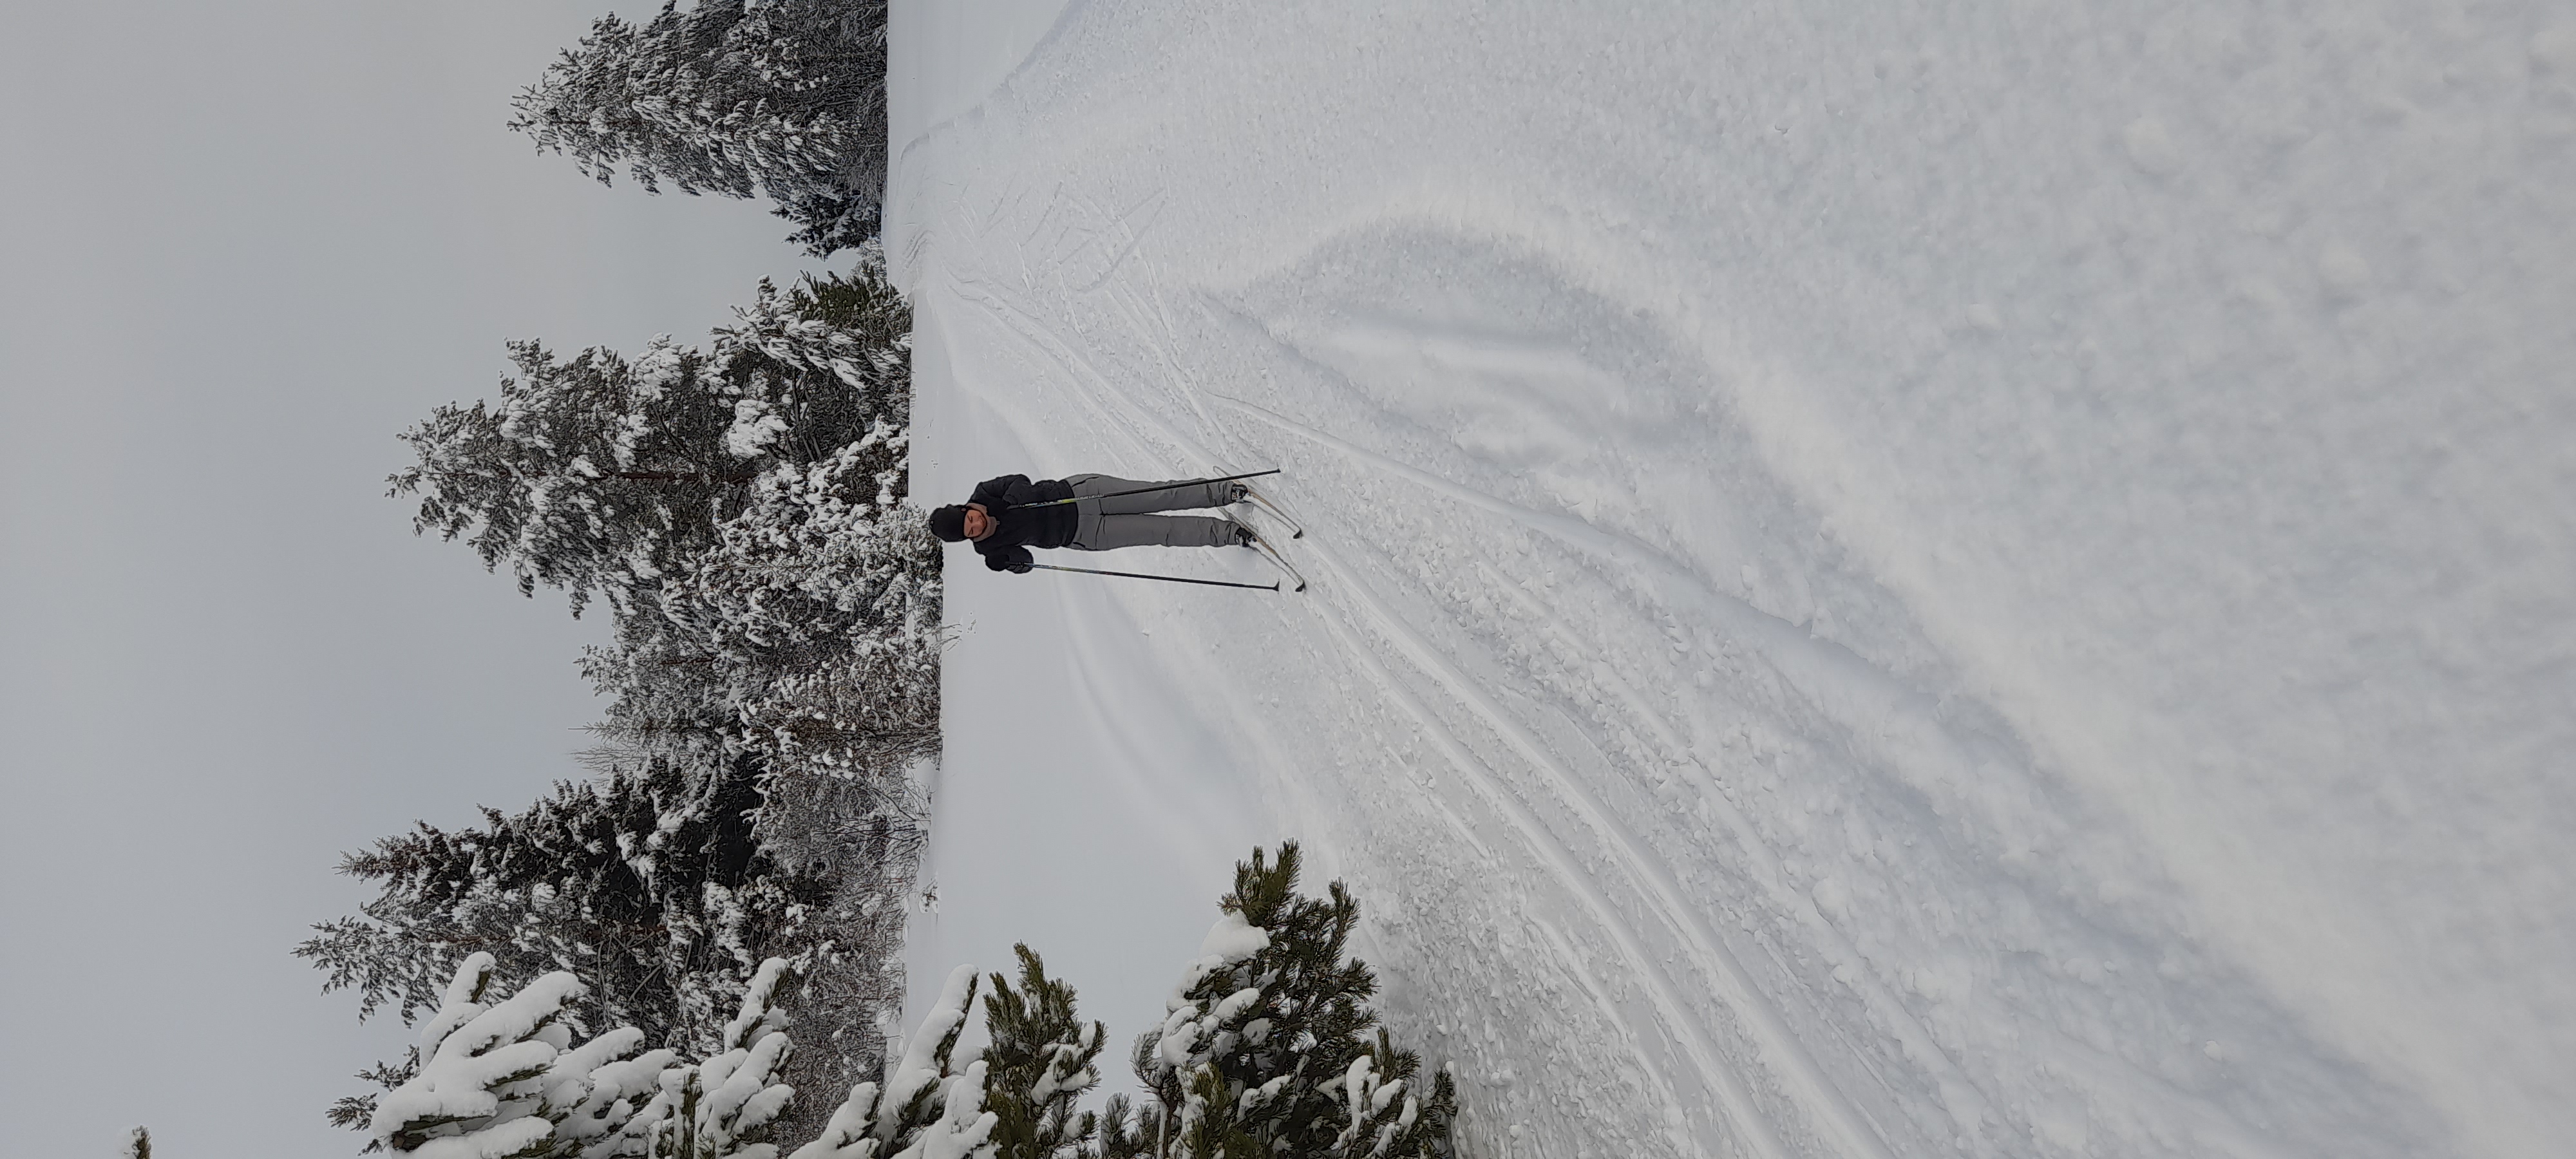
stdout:
POLYGON ((2563 1154, 2576 10, 1461 8, 1077 3, 889 252, 958 479, 1288 469, 1074 662, 1473 1154, 2563 1154))

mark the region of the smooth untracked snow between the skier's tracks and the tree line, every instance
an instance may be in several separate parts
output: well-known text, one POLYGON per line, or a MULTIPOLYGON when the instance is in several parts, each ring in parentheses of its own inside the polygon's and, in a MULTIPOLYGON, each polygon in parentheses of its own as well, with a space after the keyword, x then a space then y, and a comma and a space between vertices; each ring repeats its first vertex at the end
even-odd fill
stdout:
MULTIPOLYGON (((917 381, 953 381, 948 345, 938 317, 922 317, 917 381)), ((963 495, 984 479, 976 469, 1033 458, 971 394, 925 389, 912 417, 912 482, 927 495, 963 495)), ((1103 1074, 1108 1089, 1133 1092, 1126 1038, 1162 1022, 1234 860, 1270 827, 1260 793, 1234 775, 1221 724, 1185 708, 1149 628, 1115 595, 1033 587, 971 561, 948 569, 958 641, 943 659, 945 752, 920 868, 938 904, 904 935, 904 1028, 958 963, 1015 974, 1010 948, 1028 943, 1074 981, 1084 1017, 1118 1030, 1103 1074)))

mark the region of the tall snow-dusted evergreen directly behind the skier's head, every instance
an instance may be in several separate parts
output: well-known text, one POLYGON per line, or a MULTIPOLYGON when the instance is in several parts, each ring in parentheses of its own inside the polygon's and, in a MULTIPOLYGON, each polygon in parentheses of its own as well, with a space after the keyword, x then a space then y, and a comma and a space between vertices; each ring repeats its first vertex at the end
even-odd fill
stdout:
POLYGON ((417 495, 415 531, 466 538, 520 592, 608 595, 636 613, 711 549, 765 474, 837 464, 845 489, 902 502, 912 314, 876 247, 848 276, 791 291, 760 283, 711 350, 657 337, 556 358, 510 343, 500 402, 448 404, 402 438, 417 461, 389 495, 417 495), (853 451, 853 446, 863 448, 853 451), (889 492, 891 487, 891 492, 889 492))

